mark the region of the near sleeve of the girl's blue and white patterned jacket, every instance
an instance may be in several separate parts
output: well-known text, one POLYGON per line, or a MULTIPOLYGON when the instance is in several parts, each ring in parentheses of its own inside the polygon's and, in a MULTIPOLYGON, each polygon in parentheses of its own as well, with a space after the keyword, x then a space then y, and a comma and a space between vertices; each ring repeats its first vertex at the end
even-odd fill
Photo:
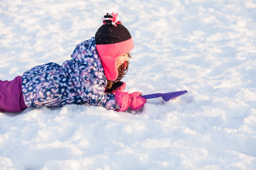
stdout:
POLYGON ((102 106, 106 109, 115 109, 114 94, 105 94, 106 79, 104 73, 97 67, 80 65, 74 75, 74 83, 82 100, 90 105, 102 106))

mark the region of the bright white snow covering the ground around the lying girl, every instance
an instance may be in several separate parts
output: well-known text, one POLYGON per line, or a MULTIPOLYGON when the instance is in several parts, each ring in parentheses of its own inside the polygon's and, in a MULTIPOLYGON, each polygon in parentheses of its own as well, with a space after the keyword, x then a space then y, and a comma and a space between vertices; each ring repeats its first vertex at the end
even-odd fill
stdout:
POLYGON ((61 64, 113 11, 135 44, 126 91, 188 94, 1 113, 0 169, 256 169, 255 0, 1 0, 0 79, 61 64))

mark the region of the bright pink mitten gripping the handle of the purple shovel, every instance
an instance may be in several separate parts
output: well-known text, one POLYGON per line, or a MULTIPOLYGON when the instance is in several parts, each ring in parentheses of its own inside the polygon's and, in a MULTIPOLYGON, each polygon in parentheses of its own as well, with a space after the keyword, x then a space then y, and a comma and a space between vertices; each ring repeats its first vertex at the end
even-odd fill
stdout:
POLYGON ((133 92, 132 94, 121 91, 115 92, 115 100, 117 100, 117 103, 120 107, 117 111, 123 112, 126 111, 129 107, 133 109, 133 111, 138 111, 141 109, 147 102, 147 99, 140 95, 142 95, 140 92, 133 92))

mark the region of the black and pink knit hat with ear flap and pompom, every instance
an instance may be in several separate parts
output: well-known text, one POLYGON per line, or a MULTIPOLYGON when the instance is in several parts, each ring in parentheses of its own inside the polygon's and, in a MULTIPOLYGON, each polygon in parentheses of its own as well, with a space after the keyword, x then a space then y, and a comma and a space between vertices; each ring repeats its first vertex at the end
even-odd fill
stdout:
POLYGON ((96 49, 101 58, 105 76, 111 81, 118 76, 118 57, 134 48, 130 32, 118 19, 118 14, 107 13, 102 18, 103 25, 95 34, 96 49))

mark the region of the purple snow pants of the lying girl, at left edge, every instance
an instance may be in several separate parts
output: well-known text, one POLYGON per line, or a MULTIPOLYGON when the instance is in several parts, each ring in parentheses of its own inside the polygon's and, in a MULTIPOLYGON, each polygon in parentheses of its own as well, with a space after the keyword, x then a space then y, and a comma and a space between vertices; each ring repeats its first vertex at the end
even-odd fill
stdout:
POLYGON ((25 108, 21 76, 16 76, 11 81, 0 80, 0 112, 20 112, 25 108))

